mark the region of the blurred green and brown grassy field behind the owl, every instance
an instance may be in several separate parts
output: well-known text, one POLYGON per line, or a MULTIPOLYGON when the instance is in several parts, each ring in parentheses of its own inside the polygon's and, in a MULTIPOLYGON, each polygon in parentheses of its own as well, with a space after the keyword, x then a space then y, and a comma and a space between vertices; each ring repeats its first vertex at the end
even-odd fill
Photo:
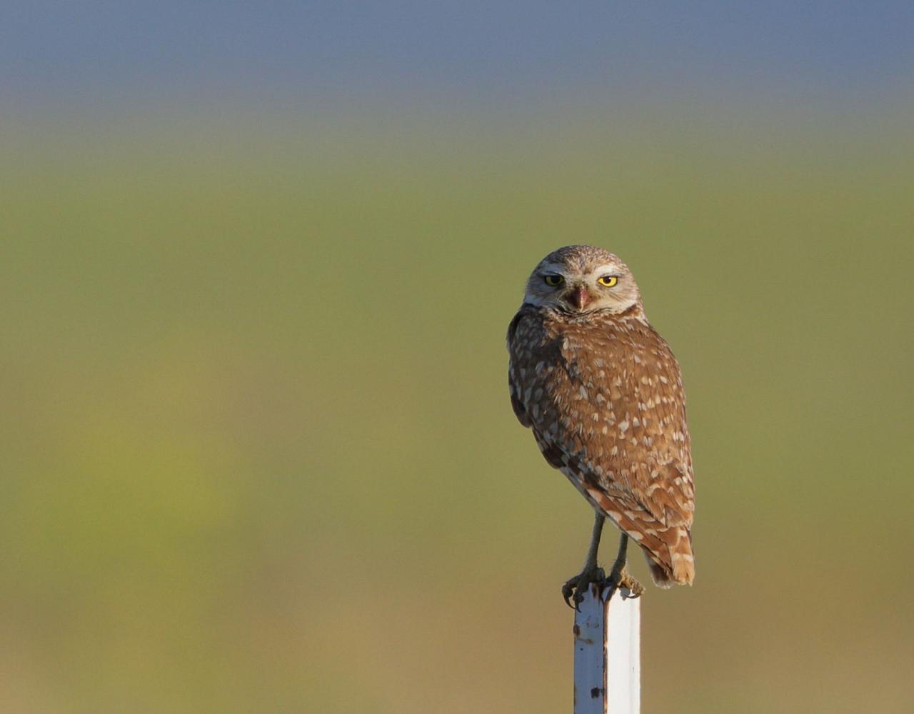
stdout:
POLYGON ((908 710, 909 131, 518 126, 5 128, 0 710, 569 710, 504 334, 573 242, 689 400, 645 710, 908 710))

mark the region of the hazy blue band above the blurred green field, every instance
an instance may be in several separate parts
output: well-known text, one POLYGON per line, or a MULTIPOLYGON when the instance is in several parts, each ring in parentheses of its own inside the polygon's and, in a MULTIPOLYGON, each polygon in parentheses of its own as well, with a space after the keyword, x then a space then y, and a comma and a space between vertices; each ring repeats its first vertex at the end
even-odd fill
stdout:
POLYGON ((0 101, 197 91, 547 101, 690 91, 885 101, 914 88, 911 2, 20 2, 0 101))

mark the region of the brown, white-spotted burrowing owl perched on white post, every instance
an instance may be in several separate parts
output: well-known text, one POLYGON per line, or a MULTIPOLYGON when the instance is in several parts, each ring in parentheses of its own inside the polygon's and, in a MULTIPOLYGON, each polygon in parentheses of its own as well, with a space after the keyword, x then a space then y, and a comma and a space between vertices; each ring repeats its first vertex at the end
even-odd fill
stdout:
POLYGON ((604 518, 622 530, 612 584, 641 591, 624 570, 628 538, 657 585, 691 584, 695 488, 682 378, 628 266, 592 246, 549 253, 526 283, 507 342, 517 419, 596 512, 584 569, 562 588, 566 602, 580 602, 603 577, 604 518))

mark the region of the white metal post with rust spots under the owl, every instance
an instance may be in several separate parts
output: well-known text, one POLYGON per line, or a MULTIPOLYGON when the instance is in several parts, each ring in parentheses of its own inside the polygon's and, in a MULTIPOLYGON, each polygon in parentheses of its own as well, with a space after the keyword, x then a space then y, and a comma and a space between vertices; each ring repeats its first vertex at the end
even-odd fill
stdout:
POLYGON ((574 618, 574 714, 641 711, 641 598, 591 584, 574 618))

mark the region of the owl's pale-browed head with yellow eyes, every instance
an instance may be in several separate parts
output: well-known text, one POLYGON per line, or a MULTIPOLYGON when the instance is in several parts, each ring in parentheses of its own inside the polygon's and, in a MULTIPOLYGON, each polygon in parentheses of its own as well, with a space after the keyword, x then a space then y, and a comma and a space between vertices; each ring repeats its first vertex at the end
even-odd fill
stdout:
POLYGON ((629 267, 608 250, 591 245, 565 246, 539 261, 526 282, 524 302, 569 314, 622 314, 642 308, 629 267))

